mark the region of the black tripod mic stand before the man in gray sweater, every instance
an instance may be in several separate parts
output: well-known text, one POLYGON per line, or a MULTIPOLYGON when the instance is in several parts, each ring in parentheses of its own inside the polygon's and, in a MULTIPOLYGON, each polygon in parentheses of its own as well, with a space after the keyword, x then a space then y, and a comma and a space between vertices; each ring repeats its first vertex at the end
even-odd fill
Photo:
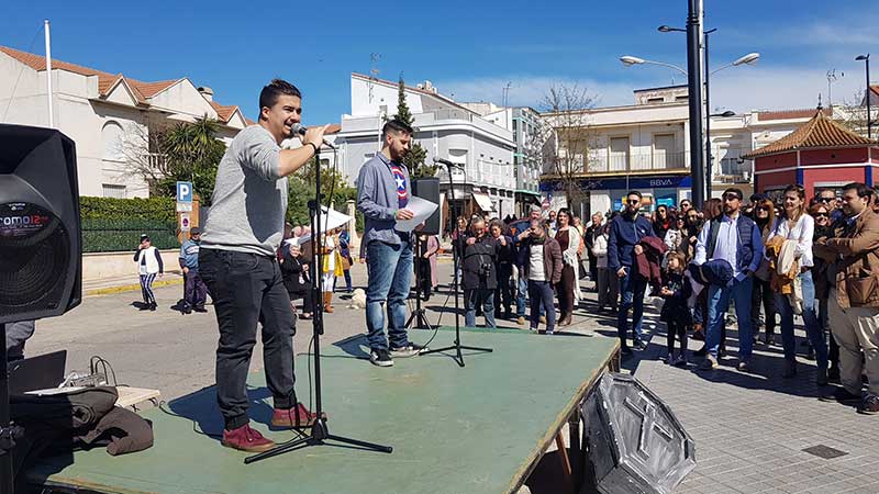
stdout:
MULTIPOLYGON (((316 157, 314 159, 314 200, 309 201, 309 211, 311 212, 311 239, 309 242, 311 242, 312 245, 312 262, 309 272, 311 273, 311 291, 313 294, 312 299, 315 303, 313 313, 314 315, 311 321, 311 325, 314 330, 314 413, 318 415, 318 418, 311 426, 310 436, 301 439, 292 439, 285 444, 278 445, 268 451, 263 451, 258 454, 247 457, 244 459, 244 462, 247 464, 255 461, 265 460, 266 458, 276 457, 278 454, 299 449, 300 447, 334 446, 326 442, 327 440, 342 442, 344 445, 358 446, 363 449, 378 452, 390 453, 393 451, 393 448, 390 446, 381 446, 330 434, 326 419, 323 418, 323 403, 321 401, 321 335, 323 335, 323 299, 320 296, 322 288, 320 274, 322 269, 319 270, 318 268, 319 266, 323 268, 323 244, 321 243, 321 165, 316 157)), ((323 226, 323 229, 326 229, 326 222, 324 222, 323 226)), ((327 234, 327 232, 323 233, 327 234)))

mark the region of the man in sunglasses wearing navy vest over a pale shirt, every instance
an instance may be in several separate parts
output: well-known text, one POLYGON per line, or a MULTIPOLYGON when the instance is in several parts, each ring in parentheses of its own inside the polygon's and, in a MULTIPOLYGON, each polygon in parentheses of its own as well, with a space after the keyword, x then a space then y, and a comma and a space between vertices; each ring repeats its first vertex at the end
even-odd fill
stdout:
POLYGON ((735 188, 723 192, 723 214, 712 220, 699 234, 696 246, 697 265, 723 259, 733 268, 733 279, 725 287, 708 287, 708 355, 701 370, 717 367, 721 330, 725 324, 730 300, 735 301, 738 318, 738 370, 748 371, 754 346, 750 322, 753 276, 764 257, 763 236, 754 220, 741 211, 742 191, 735 188))

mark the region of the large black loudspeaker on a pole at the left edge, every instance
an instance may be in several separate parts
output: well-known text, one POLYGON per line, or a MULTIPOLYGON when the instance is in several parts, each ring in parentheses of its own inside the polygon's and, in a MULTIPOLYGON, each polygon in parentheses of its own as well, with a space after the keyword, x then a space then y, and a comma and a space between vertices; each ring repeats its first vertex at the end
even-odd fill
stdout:
POLYGON ((76 146, 53 128, 0 124, 0 324, 81 300, 76 146))

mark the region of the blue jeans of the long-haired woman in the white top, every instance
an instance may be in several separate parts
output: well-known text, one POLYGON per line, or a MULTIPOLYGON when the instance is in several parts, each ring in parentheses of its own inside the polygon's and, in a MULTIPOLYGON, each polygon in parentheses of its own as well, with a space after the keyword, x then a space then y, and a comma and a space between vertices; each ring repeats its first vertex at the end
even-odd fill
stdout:
MULTIPOLYGON (((812 281, 812 271, 801 272, 798 277, 803 289, 803 325, 805 335, 815 350, 815 362, 819 368, 827 367, 827 344, 824 339, 824 328, 817 319, 815 312, 815 283, 812 281)), ((793 336, 793 308, 788 295, 776 293, 776 310, 781 316, 781 345, 785 347, 785 359, 795 360, 797 338, 793 336)))

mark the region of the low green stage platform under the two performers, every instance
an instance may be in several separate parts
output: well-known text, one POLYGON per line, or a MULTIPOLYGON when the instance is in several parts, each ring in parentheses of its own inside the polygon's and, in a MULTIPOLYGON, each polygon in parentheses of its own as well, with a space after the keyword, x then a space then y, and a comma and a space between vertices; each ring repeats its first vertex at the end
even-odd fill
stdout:
MULTIPOLYGON (((332 332, 332 329, 330 329, 332 332)), ((424 343, 433 332, 412 332, 424 343)), ((443 329, 432 347, 449 345, 443 329)), ((466 330, 459 368, 443 353, 371 366, 365 337, 322 347, 324 408, 330 433, 393 447, 378 453, 310 447, 251 465, 204 433, 222 422, 212 388, 143 416, 155 446, 111 457, 102 448, 47 460, 27 473, 34 483, 107 493, 478 494, 515 492, 596 379, 612 362, 616 338, 466 330)), ((257 357, 258 358, 258 357, 257 357)), ((297 357, 297 391, 308 400, 308 355, 297 357)), ((253 425, 270 431, 271 400, 262 373, 249 380, 253 425)))

